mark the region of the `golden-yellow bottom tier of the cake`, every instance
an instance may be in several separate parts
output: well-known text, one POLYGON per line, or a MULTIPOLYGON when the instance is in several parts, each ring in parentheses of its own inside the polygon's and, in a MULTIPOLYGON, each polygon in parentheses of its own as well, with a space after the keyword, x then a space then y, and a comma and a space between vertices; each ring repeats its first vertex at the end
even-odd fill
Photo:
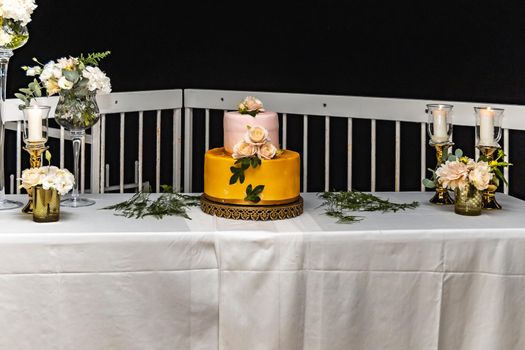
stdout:
POLYGON ((245 201, 246 187, 264 185, 257 205, 291 203, 299 198, 301 159, 299 153, 285 150, 279 157, 262 160, 257 168, 245 170, 244 183, 230 185, 235 159, 224 148, 206 152, 204 158, 204 195, 215 202, 254 205, 245 201))

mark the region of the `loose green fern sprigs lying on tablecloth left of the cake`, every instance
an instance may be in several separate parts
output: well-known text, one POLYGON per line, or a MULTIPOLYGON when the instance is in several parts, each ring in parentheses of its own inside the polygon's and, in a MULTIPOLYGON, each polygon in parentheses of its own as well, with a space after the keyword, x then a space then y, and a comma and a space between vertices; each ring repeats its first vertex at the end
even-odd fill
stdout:
POLYGON ((162 219, 164 216, 182 216, 186 219, 187 209, 199 205, 200 196, 190 196, 174 192, 171 186, 161 186, 163 193, 157 199, 151 199, 149 192, 138 192, 129 200, 104 207, 118 212, 116 215, 127 218, 142 219, 153 216, 162 219))

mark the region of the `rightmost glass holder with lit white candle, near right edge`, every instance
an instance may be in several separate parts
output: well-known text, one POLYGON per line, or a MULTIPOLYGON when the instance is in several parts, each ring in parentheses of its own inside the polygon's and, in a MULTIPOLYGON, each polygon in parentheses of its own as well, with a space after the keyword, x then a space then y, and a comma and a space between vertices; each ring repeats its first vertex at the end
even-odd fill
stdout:
POLYGON ((503 109, 474 107, 476 116, 476 146, 499 147, 503 109))

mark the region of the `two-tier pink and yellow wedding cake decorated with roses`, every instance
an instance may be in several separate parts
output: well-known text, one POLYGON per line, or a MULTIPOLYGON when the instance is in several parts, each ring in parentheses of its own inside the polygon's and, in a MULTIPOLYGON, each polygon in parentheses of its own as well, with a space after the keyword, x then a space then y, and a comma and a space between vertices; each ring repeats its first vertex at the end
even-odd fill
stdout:
POLYGON ((236 207, 300 201, 302 212, 300 171, 299 153, 280 149, 277 114, 248 96, 237 111, 224 113, 224 147, 205 154, 203 197, 236 207))

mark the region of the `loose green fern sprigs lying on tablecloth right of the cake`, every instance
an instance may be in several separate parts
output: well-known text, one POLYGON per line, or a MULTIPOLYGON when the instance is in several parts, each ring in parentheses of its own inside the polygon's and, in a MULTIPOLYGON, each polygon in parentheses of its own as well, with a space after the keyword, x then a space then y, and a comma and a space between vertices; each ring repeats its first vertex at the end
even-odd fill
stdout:
POLYGON ((318 193, 317 196, 323 199, 321 207, 325 207, 325 214, 337 218, 337 223, 353 223, 363 219, 362 216, 351 215, 349 212, 397 212, 414 209, 419 205, 418 202, 392 203, 388 199, 381 199, 359 191, 322 192, 318 193))

